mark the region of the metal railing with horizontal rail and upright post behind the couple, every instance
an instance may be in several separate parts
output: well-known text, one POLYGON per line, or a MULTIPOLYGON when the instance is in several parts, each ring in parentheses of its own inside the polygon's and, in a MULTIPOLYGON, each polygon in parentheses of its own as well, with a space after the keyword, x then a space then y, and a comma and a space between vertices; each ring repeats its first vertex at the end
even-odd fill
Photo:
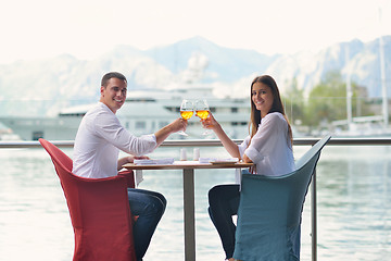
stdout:
MULTIPOLYGON (((294 146, 313 146, 319 138, 297 138, 294 146)), ((241 139, 234 140, 240 144, 241 139)), ((51 140, 58 147, 72 148, 74 140, 51 140)), ((326 146, 390 146, 391 138, 331 138, 326 146)), ((165 140, 162 147, 219 147, 217 139, 165 140)), ((39 141, 0 141, 0 149, 40 148, 39 141)), ((311 183, 311 232, 312 260, 317 260, 317 207, 316 207, 316 170, 311 183)))

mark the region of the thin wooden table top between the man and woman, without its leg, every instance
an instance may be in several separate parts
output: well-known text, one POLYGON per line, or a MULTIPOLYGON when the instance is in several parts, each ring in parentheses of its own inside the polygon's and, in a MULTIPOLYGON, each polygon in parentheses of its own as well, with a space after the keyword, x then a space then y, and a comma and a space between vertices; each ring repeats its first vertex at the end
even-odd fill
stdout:
POLYGON ((187 170, 187 169, 241 169, 250 167, 253 163, 244 162, 224 162, 224 163, 199 163, 198 161, 175 161, 174 164, 153 164, 136 165, 134 163, 124 164, 123 167, 128 170, 187 170))

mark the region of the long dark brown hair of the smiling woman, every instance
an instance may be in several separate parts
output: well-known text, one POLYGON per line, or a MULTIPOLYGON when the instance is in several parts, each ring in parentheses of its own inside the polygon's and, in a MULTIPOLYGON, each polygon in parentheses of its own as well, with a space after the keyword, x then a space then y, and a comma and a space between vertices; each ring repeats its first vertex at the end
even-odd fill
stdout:
POLYGON ((293 137, 292 137, 292 128, 289 124, 288 117, 285 113, 283 110, 283 104, 281 101, 281 97, 276 84, 276 80, 274 80, 274 78, 269 75, 262 75, 262 76, 257 76, 253 79, 253 82, 251 83, 251 88, 250 88, 250 101, 251 101, 251 121, 249 124, 249 133, 251 138, 255 135, 255 133, 257 132, 258 125, 261 123, 261 111, 256 110, 256 107, 252 100, 252 87, 255 83, 261 83, 264 85, 267 85, 273 94, 273 105, 272 109, 268 113, 270 112, 279 112, 283 115, 283 117, 286 119, 287 123, 288 123, 288 137, 290 138, 290 142, 291 145, 293 145, 293 137))

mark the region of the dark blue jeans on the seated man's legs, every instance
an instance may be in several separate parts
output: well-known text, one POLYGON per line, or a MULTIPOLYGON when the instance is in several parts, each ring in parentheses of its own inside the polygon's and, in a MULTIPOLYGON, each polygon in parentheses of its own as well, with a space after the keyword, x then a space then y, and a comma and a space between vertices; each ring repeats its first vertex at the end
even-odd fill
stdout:
POLYGON ((142 260, 167 201, 159 192, 138 188, 128 188, 128 198, 131 213, 139 216, 133 233, 137 260, 142 260))

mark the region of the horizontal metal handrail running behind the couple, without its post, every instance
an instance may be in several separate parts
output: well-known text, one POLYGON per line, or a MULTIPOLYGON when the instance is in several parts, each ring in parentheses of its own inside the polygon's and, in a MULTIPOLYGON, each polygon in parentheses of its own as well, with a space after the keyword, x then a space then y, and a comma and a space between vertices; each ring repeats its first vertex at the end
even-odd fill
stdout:
MULTIPOLYGON (((319 140, 319 138, 295 138, 293 139, 293 145, 297 146, 313 146, 319 140)), ((234 139, 236 144, 240 144, 242 139, 234 139)), ((72 148, 74 146, 74 140, 53 140, 51 141, 58 147, 72 148)), ((331 138, 327 144, 329 145, 345 145, 345 146, 356 146, 356 145, 391 145, 391 138, 331 138)), ((222 142, 218 139, 173 139, 165 140, 161 145, 162 147, 218 147, 222 146, 222 142)), ((1 141, 0 149, 21 149, 21 148, 40 148, 41 145, 39 141, 35 140, 16 140, 16 141, 1 141)))

